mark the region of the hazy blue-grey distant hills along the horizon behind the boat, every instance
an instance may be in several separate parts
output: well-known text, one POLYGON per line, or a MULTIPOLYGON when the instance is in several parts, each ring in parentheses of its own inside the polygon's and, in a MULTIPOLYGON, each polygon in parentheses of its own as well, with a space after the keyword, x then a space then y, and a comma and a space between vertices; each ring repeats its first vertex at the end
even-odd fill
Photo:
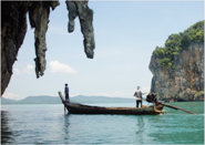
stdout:
MULTIPOLYGON (((71 102, 78 103, 133 103, 135 99, 124 99, 124 97, 107 97, 107 96, 84 96, 78 95, 70 97, 71 102)), ((20 101, 14 101, 10 99, 1 97, 1 104, 61 104, 59 96, 28 96, 20 101)))

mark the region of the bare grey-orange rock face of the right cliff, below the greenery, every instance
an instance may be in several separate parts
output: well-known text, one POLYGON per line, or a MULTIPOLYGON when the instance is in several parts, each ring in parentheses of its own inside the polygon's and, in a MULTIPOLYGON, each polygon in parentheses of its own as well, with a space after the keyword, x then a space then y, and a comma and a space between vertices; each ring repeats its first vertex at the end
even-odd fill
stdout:
POLYGON ((184 99, 193 101, 194 95, 204 90, 204 43, 191 43, 174 58, 175 71, 170 75, 154 54, 150 70, 153 73, 151 92, 158 99, 184 99))

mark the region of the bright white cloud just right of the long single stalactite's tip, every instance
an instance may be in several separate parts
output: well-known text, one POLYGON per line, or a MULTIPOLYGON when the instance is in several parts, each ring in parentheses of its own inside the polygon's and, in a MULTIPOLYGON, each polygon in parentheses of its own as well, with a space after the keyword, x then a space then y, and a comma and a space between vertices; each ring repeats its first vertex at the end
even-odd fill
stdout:
POLYGON ((76 73, 76 71, 74 69, 72 69, 71 66, 63 64, 63 63, 60 63, 57 60, 50 61, 49 66, 50 66, 52 73, 70 73, 70 74, 76 73))

